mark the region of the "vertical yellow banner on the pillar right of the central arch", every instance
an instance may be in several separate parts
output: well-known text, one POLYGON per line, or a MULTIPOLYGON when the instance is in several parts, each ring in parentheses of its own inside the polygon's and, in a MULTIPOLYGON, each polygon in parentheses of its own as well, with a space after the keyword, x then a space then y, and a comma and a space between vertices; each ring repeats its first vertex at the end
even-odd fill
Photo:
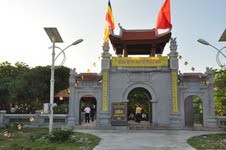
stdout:
POLYGON ((178 112, 177 72, 172 72, 173 112, 178 112))

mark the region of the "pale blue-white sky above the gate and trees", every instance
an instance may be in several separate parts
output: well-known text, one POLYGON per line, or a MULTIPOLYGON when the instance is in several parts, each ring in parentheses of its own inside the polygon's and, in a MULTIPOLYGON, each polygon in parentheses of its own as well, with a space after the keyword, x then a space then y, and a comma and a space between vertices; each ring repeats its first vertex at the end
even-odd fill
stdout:
MULTIPOLYGON (((120 23, 125 29, 152 29, 163 0, 111 0, 115 33, 120 23)), ((44 27, 57 27, 65 48, 83 38, 79 45, 66 51, 65 66, 78 72, 100 71, 107 0, 1 0, 0 62, 24 62, 31 67, 51 64, 51 42, 44 27), (93 67, 93 63, 97 63, 93 67)), ((226 0, 171 0, 172 36, 177 37, 181 72, 204 72, 206 67, 219 68, 216 51, 197 43, 204 38, 221 48, 218 42, 226 28, 226 0), (183 63, 188 61, 189 65, 183 63)), ((114 55, 114 51, 110 51, 114 55)), ((225 50, 226 52, 226 50, 225 50)), ((169 45, 164 55, 169 53, 169 45)), ((56 63, 60 63, 61 58, 56 63)), ((226 60, 222 59, 222 62, 226 60)))

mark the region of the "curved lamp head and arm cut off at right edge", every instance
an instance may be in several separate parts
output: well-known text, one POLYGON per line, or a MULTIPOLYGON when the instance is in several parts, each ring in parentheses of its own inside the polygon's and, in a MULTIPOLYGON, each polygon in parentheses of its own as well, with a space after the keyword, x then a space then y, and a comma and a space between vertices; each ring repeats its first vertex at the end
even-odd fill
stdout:
POLYGON ((225 58, 225 60, 226 60, 226 55, 222 52, 222 50, 223 50, 224 48, 226 48, 226 46, 222 47, 221 49, 218 49, 218 48, 216 48, 215 46, 211 45, 209 42, 207 42, 207 41, 204 40, 204 39, 198 39, 197 41, 198 41, 199 43, 203 44, 203 45, 210 46, 210 47, 214 48, 215 50, 217 50, 217 54, 216 54, 216 61, 217 61, 217 64, 218 64, 221 68, 223 68, 223 69, 226 68, 226 64, 225 64, 225 63, 222 64, 221 61, 220 61, 220 54, 221 54, 221 55, 225 58))

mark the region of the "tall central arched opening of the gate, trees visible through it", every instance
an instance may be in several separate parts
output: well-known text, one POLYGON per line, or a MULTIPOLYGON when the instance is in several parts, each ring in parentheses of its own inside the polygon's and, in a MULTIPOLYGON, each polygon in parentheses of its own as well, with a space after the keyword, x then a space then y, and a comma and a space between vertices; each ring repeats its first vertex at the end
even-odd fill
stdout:
POLYGON ((127 99, 127 114, 128 114, 128 123, 136 124, 136 107, 140 106, 142 108, 142 123, 152 123, 152 96, 150 92, 143 87, 133 88, 129 94, 127 99))

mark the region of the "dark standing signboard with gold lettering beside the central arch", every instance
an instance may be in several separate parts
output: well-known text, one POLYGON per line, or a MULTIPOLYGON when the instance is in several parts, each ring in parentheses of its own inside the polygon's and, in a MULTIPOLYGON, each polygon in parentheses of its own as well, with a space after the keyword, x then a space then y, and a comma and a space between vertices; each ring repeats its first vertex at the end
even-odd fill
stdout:
POLYGON ((127 125, 127 104, 118 102, 112 103, 111 106, 111 124, 115 126, 127 125))

